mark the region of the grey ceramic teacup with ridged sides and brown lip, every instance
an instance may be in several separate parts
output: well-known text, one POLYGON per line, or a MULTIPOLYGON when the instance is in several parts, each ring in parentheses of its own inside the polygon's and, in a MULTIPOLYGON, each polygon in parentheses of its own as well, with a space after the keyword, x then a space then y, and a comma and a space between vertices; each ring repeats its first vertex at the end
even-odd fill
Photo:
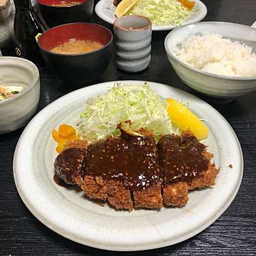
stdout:
POLYGON ((143 71, 151 60, 152 23, 137 15, 114 21, 117 67, 126 72, 143 71))

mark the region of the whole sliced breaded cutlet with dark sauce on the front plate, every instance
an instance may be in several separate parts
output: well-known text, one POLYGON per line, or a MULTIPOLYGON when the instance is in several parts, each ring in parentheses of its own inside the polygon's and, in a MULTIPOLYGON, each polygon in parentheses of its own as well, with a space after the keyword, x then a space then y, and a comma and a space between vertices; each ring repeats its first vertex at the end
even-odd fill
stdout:
POLYGON ((90 199, 116 209, 181 207, 188 191, 214 185, 214 155, 189 132, 168 134, 156 144, 153 133, 119 127, 121 136, 95 142, 77 140, 55 159, 55 174, 76 183, 90 199))

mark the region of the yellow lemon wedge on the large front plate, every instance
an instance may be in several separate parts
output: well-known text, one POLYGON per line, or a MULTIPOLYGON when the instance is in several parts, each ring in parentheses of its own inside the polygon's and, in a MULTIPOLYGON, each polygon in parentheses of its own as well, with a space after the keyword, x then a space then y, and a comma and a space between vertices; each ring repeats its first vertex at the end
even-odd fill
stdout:
POLYGON ((183 131, 192 131, 198 140, 205 140, 208 137, 207 127, 195 114, 175 99, 167 99, 167 102, 168 115, 177 127, 183 131))

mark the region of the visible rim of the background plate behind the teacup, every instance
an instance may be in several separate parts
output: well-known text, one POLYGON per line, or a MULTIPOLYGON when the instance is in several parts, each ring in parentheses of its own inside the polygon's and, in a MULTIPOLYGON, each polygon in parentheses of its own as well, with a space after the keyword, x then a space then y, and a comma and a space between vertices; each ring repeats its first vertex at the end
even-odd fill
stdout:
MULTIPOLYGON (((103 21, 113 24, 115 20, 114 16, 109 16, 102 11, 103 8, 105 8, 104 7, 105 1, 110 1, 110 0, 100 0, 95 6, 95 12, 97 16, 99 16, 99 18, 101 18, 103 21)), ((205 18, 205 16, 207 15, 207 7, 205 6, 205 4, 200 0, 194 0, 194 1, 196 1, 196 5, 199 6, 199 11, 194 16, 189 18, 188 21, 185 21, 182 25, 188 25, 188 24, 202 21, 203 18, 205 18)), ((175 27, 176 26, 173 26, 173 25, 153 25, 152 30, 166 31, 166 30, 175 29, 175 27)))

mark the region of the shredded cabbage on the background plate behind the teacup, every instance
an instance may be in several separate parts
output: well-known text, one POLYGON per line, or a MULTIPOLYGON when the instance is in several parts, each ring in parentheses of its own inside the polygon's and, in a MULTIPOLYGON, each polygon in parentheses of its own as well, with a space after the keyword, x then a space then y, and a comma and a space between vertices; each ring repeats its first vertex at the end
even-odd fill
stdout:
POLYGON ((197 11, 196 5, 189 11, 178 0, 140 0, 128 15, 145 16, 153 25, 179 26, 197 11))

